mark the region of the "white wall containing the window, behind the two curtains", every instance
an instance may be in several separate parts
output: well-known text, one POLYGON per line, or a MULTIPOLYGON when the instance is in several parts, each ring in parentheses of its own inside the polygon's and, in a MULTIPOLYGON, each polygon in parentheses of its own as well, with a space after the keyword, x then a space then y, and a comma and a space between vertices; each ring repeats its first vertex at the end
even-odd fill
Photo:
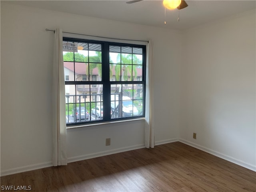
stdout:
MULTIPOLYGON (((54 34, 46 28, 115 38, 152 38, 155 141, 160 144, 179 137, 179 32, 1 2, 2 175, 52 165, 54 34)), ((143 145, 143 120, 67 130, 70 162, 143 145), (111 146, 105 146, 106 138, 111 138, 111 146)))

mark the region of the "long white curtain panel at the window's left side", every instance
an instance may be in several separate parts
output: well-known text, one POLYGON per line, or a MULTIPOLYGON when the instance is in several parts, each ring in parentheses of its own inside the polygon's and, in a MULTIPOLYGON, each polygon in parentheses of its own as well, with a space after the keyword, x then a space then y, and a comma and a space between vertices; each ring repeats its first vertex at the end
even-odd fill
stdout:
POLYGON ((67 165, 66 102, 62 29, 55 30, 53 58, 53 158, 54 166, 67 165))

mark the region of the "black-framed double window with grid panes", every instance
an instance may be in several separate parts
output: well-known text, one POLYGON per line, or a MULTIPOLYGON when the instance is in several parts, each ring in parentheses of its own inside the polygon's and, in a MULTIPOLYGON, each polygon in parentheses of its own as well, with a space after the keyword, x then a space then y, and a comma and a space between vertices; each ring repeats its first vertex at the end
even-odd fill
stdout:
POLYGON ((63 41, 78 44, 63 52, 67 126, 145 116, 146 46, 63 41))

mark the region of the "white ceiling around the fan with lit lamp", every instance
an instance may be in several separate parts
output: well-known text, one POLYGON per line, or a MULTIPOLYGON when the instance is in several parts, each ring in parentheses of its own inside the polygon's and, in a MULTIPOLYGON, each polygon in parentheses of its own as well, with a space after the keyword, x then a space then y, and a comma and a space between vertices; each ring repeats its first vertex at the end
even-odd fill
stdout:
POLYGON ((256 9, 256 0, 186 0, 188 7, 166 9, 162 0, 143 0, 126 4, 127 0, 28 0, 1 1, 34 8, 79 14, 122 22, 183 30, 221 18, 256 9), (180 21, 177 21, 180 14, 180 21))

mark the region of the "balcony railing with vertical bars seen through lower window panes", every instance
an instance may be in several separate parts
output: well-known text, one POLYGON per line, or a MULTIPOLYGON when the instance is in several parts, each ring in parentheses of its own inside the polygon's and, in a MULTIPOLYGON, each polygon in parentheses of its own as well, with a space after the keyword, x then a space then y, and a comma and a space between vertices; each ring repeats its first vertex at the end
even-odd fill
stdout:
MULTIPOLYGON (((142 116, 142 98, 130 99, 127 92, 111 94, 111 112, 110 118, 130 118, 134 116, 142 116), (128 102, 129 105, 125 103, 128 102)), ((103 113, 102 94, 74 94, 66 95, 66 123, 74 124, 81 122, 90 122, 102 120, 103 113), (99 108, 96 109, 96 107, 99 108), (93 110, 93 111, 92 111, 93 110), (98 110, 98 111, 96 111, 98 110), (97 112, 99 116, 97 116, 97 112)))

